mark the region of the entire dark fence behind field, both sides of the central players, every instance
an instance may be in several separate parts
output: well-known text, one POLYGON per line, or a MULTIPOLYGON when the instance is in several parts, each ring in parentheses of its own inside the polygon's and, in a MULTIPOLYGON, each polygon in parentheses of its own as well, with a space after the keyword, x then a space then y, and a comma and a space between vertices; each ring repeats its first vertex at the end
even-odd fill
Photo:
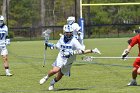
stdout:
MULTIPOLYGON (((133 34, 135 29, 132 29, 132 26, 137 25, 85 26, 85 38, 131 37, 135 35, 133 34)), ((39 40, 43 39, 43 37, 41 37, 42 29, 50 29, 52 31, 50 36, 50 39, 52 40, 59 39, 59 34, 63 33, 63 26, 9 28, 9 32, 14 34, 13 40, 39 40)))

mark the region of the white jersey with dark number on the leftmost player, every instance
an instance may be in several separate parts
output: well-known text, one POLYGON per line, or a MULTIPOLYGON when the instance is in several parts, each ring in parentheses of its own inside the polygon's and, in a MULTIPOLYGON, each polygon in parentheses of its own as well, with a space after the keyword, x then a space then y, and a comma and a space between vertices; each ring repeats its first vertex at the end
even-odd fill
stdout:
POLYGON ((8 36, 8 27, 4 25, 0 27, 0 46, 6 46, 6 36, 8 36))

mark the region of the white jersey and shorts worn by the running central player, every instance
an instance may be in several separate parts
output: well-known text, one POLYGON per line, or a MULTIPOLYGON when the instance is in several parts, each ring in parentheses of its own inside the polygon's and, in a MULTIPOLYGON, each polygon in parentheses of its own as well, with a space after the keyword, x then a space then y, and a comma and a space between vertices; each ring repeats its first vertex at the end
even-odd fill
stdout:
POLYGON ((71 64, 74 62, 75 55, 70 56, 69 58, 65 57, 63 54, 63 50, 66 51, 73 51, 73 50, 83 50, 84 48, 79 43, 79 41, 76 38, 72 38, 72 40, 68 41, 67 43, 64 42, 64 35, 60 37, 59 41, 56 44, 56 47, 60 50, 58 53, 58 56, 56 58, 56 61, 53 63, 53 66, 57 66, 62 68, 67 68, 63 74, 66 74, 66 72, 69 71, 71 64))

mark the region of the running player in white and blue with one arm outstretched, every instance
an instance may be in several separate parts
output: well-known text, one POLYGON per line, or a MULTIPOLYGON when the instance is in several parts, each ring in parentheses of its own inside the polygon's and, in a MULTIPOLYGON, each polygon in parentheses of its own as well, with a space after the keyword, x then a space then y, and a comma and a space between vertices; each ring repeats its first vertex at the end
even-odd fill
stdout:
POLYGON ((78 40, 73 37, 73 28, 71 25, 64 25, 64 35, 60 37, 56 45, 48 43, 48 47, 56 47, 60 50, 56 61, 52 64, 53 68, 39 81, 40 84, 43 84, 49 79, 49 77, 57 74, 57 76, 50 82, 48 90, 53 90, 54 84, 58 82, 63 75, 70 76, 70 69, 74 61, 74 55, 85 53, 100 54, 100 51, 97 48, 93 50, 84 50, 78 40))

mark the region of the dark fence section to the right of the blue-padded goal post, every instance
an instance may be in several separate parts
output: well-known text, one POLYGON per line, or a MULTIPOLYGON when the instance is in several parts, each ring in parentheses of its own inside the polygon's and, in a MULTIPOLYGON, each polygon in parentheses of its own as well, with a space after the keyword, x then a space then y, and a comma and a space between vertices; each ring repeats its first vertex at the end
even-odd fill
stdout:
POLYGON ((85 38, 132 37, 140 24, 99 24, 85 26, 85 38))

